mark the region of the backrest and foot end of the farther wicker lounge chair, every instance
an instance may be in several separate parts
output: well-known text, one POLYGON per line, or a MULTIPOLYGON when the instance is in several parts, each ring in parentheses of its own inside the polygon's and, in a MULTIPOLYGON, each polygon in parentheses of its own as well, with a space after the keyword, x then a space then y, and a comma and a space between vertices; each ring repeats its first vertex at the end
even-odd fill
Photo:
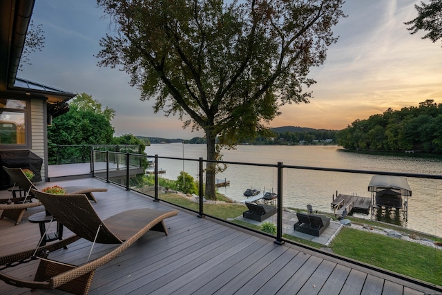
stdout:
MULTIPOLYGON (((25 191, 25 198, 28 198, 28 196, 32 197, 32 193, 30 192, 31 189, 38 190, 37 187, 35 187, 35 185, 26 177, 21 168, 8 168, 3 166, 3 169, 5 169, 12 181, 25 191)), ((94 202, 97 202, 97 199, 93 195, 93 192, 108 191, 108 189, 99 187, 64 187, 64 189, 68 194, 84 194, 89 200, 93 200, 94 202)))

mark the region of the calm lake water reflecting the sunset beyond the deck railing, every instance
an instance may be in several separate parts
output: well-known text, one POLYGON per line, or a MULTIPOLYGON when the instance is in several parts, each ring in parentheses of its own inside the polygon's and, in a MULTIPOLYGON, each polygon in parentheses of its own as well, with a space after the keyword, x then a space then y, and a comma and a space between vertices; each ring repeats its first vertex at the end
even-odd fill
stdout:
MULTIPOLYGON (((206 158, 204 144, 151 144, 146 147, 148 155, 198 159, 206 158)), ((414 154, 373 155, 349 153, 338 146, 237 146, 236 150, 222 151, 224 161, 260 164, 311 166, 367 171, 390 171, 401 173, 442 174, 441 158, 423 158, 414 154)), ((166 173, 162 177, 172 180, 183 170, 198 178, 198 162, 182 160, 158 161, 158 168, 166 173)), ((229 187, 220 187, 220 193, 233 200, 244 200, 246 189, 276 192, 277 171, 273 167, 229 164, 227 170, 217 174, 217 179, 230 181, 229 187)), ((347 195, 370 197, 367 190, 372 175, 284 169, 283 206, 305 209, 311 204, 314 210, 332 213, 330 202, 336 192, 347 195)), ((408 198, 408 220, 392 210, 390 214, 372 216, 371 213, 355 213, 354 216, 378 219, 400 224, 403 227, 442 236, 442 180, 407 178, 412 196, 408 198)))

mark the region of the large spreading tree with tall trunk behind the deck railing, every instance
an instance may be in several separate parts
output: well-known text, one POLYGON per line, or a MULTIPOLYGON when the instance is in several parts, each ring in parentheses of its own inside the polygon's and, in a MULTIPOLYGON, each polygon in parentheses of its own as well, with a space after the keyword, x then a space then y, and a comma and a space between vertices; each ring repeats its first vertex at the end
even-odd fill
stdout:
MULTIPOLYGON (((203 129, 207 160, 265 130, 283 104, 309 102, 303 87, 336 42, 332 26, 343 0, 97 0, 115 23, 97 57, 121 67, 155 99, 155 112, 184 114, 203 129)), ((186 117, 187 118, 187 117, 186 117)), ((206 167, 206 198, 215 198, 215 165, 206 167)))

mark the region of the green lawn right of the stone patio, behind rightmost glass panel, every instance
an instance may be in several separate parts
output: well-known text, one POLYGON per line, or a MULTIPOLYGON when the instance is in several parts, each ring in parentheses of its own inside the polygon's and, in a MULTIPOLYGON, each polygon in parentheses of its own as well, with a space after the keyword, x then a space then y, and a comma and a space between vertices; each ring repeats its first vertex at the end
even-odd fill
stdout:
POLYGON ((343 228, 330 247, 336 254, 442 285, 441 250, 351 228, 343 228))

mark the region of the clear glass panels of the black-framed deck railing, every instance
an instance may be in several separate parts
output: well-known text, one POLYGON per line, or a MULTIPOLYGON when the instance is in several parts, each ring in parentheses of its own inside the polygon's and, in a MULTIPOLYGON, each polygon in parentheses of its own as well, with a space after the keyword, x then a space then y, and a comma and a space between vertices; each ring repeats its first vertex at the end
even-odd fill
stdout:
MULTIPOLYGON (((103 153, 94 155, 94 166, 102 166, 103 153)), ((287 242, 327 249, 442 285, 439 175, 221 162, 218 164, 227 166, 216 173, 217 200, 204 198, 200 203, 205 185, 200 192, 200 175, 205 182, 207 161, 127 155, 108 152, 105 165, 109 166, 109 175, 118 170, 124 174, 127 166, 129 171, 139 169, 140 173, 129 175, 130 189, 202 215, 264 231, 276 242, 282 235, 287 242), (412 193, 387 184, 372 186, 375 175, 405 178, 412 193), (271 211, 265 206, 278 209, 264 216, 271 211), (252 218, 246 217, 247 212, 252 218)), ((119 180, 110 177, 110 181, 121 185, 127 182, 125 176, 119 180)))

